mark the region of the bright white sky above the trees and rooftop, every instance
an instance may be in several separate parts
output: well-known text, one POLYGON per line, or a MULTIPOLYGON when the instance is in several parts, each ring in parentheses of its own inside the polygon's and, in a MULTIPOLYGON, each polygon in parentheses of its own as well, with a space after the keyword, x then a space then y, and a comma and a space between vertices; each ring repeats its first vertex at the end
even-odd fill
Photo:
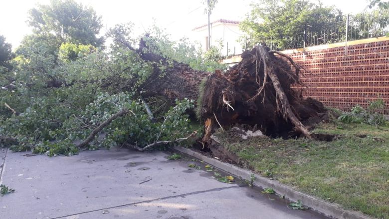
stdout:
MULTIPOLYGON (((76 0, 92 6, 103 17, 104 33, 117 23, 133 22, 136 31, 148 29, 155 20, 159 27, 166 28, 172 39, 189 37, 191 30, 207 23, 202 0, 76 0)), ((316 1, 317 0, 311 0, 316 1)), ((323 0, 324 5, 335 5, 344 13, 358 13, 366 8, 368 0, 323 0)), ((27 11, 37 3, 48 4, 49 0, 3 0, 0 13, 0 35, 16 48, 23 36, 31 33, 27 26, 27 11)), ((211 15, 217 19, 242 20, 255 0, 218 0, 211 15)))

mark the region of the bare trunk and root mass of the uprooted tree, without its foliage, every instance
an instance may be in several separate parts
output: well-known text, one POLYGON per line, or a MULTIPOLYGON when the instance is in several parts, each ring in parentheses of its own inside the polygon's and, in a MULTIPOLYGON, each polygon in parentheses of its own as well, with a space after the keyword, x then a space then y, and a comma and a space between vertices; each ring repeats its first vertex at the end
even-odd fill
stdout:
POLYGON ((162 63, 166 69, 162 72, 155 65, 152 76, 140 87, 150 96, 197 100, 199 117, 205 122, 203 144, 209 143, 217 126, 236 124, 248 125, 273 137, 303 135, 311 138, 310 123, 321 121, 326 112, 321 102, 302 97, 300 66, 266 46, 258 45, 243 52, 239 64, 226 72, 216 70, 211 74, 176 61, 170 63, 163 56, 150 52, 148 40, 153 39, 144 37, 139 49, 128 48, 146 61, 162 63), (202 80, 206 80, 203 87, 200 86, 202 80))

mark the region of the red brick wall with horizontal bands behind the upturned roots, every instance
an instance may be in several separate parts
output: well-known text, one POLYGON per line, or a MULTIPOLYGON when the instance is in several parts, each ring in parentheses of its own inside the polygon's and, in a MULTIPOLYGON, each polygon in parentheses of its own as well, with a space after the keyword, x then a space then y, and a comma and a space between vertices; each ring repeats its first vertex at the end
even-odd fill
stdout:
POLYGON ((305 54, 301 49, 284 53, 314 74, 300 74, 308 87, 304 97, 350 110, 356 104, 367 107, 380 96, 389 114, 389 39, 382 38, 311 47, 305 54))

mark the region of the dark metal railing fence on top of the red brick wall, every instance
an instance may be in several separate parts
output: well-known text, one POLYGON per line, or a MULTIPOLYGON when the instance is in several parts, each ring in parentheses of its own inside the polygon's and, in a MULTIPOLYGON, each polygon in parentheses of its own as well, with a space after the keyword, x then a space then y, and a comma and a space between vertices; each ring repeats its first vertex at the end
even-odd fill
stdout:
POLYGON ((298 36, 289 38, 285 36, 282 40, 287 43, 283 43, 282 46, 277 43, 277 40, 272 39, 265 40, 266 44, 272 49, 284 50, 385 36, 389 34, 389 10, 345 15, 323 28, 306 24, 299 31, 301 34, 298 36))

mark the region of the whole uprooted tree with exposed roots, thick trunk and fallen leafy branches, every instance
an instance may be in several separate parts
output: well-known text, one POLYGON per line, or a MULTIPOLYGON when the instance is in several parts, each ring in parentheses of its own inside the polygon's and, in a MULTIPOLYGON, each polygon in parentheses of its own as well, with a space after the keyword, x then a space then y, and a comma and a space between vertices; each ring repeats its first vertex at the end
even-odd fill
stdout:
MULTIPOLYGON (((85 80, 65 74, 58 78, 71 81, 69 86, 48 88, 42 81, 43 88, 37 86, 35 91, 39 98, 25 107, 17 102, 4 104, 8 115, 0 126, 0 134, 7 139, 4 137, 1 142, 12 138, 20 146, 16 151, 33 148, 36 153, 49 151, 51 156, 74 154, 79 148, 115 145, 144 151, 163 144, 184 144, 183 141, 194 138, 194 134, 189 135, 186 114, 194 116, 196 111, 205 126, 201 145, 212 149, 210 136, 218 127, 226 130, 239 125, 272 137, 311 138, 314 136, 309 125, 321 121, 325 114, 320 102, 303 99, 300 67, 265 46, 245 51, 242 61, 225 72, 210 73, 175 61, 158 50, 159 43, 152 37, 143 37, 138 48, 120 38, 114 39, 124 46, 112 52, 110 59, 104 53, 92 53, 79 62, 60 63, 59 69, 79 72, 80 66, 97 58, 99 61, 92 62, 87 71, 96 72, 95 77, 91 74, 91 79, 85 80), (120 56, 115 57, 116 54, 120 56), (134 65, 137 67, 131 67, 134 65), (139 74, 145 70, 146 74, 139 74), (101 92, 96 95, 97 90, 101 92), (161 102, 159 98, 175 107, 156 106, 161 102)), ((28 85, 24 87, 33 90, 28 85)), ((15 91, 23 94, 17 97, 26 96, 23 89, 15 91)), ((15 95, 7 94, 12 101, 15 95)))

